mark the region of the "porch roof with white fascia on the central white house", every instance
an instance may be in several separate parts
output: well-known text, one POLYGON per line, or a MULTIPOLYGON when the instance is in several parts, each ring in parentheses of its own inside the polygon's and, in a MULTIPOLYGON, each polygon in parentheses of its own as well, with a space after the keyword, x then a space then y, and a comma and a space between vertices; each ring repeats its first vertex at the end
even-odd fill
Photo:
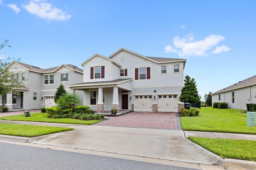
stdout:
POLYGON ((132 79, 116 79, 111 81, 96 81, 96 82, 84 82, 73 85, 68 85, 70 89, 74 90, 85 90, 95 88, 107 88, 107 87, 118 87, 120 89, 132 91, 132 79))

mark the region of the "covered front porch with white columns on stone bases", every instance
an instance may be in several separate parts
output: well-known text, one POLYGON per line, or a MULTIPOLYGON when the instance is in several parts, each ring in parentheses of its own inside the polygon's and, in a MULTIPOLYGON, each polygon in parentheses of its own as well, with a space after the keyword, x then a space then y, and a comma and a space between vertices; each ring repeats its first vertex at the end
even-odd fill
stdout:
MULTIPOLYGON (((97 113, 111 113, 111 109, 129 111, 132 109, 132 79, 84 82, 68 87, 75 93, 83 91, 83 105, 97 113)), ((122 112, 121 112, 122 113, 122 112)))

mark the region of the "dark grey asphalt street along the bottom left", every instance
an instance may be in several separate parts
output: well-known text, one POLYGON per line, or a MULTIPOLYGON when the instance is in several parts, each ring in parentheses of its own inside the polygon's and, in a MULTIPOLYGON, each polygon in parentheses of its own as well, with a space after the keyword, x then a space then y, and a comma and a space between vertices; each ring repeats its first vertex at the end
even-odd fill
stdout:
POLYGON ((0 142, 2 170, 195 170, 0 142))

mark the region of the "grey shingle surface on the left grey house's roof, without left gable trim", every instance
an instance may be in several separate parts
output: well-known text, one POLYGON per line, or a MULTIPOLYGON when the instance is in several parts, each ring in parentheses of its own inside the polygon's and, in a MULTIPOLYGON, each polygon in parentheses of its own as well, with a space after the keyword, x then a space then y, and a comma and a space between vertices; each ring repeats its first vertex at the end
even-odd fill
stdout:
MULTIPOLYGON (((53 72, 54 70, 56 70, 58 67, 52 67, 52 68, 48 68, 48 69, 43 69, 43 68, 40 68, 40 67, 36 67, 36 66, 32 66, 32 65, 28 65, 28 64, 25 64, 25 63, 21 63, 21 62, 18 62, 18 61, 15 61, 16 63, 22 65, 23 67, 25 67, 26 69, 28 70, 32 70, 32 71, 36 71, 36 72, 40 72, 40 73, 45 73, 45 72, 53 72)), ((72 64, 67 64, 66 66, 70 67, 71 69, 74 69, 76 71, 79 71, 79 72, 83 72, 82 69, 72 65, 72 64)))

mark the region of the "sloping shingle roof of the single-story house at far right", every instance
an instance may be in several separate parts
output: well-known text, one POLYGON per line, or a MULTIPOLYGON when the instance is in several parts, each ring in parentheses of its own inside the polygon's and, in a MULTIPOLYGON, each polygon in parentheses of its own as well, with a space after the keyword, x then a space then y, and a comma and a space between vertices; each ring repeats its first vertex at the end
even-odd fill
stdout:
POLYGON ((212 93, 212 95, 216 95, 218 93, 222 93, 222 92, 225 92, 225 91, 240 89, 242 87, 247 87, 247 86, 250 86, 250 85, 256 85, 256 75, 254 75, 254 76, 252 76, 248 79, 245 79, 243 81, 239 81, 238 83, 235 83, 234 85, 231 85, 231 86, 228 86, 224 89, 216 91, 216 92, 212 93))

